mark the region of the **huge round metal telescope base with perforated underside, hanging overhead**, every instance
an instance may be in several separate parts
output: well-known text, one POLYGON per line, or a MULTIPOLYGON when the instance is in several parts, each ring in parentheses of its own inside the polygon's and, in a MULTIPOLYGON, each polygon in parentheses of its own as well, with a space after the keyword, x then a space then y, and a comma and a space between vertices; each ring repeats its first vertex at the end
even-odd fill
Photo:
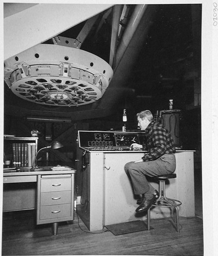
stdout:
POLYGON ((100 57, 77 48, 39 44, 4 62, 7 86, 18 97, 49 106, 100 99, 113 77, 100 57))

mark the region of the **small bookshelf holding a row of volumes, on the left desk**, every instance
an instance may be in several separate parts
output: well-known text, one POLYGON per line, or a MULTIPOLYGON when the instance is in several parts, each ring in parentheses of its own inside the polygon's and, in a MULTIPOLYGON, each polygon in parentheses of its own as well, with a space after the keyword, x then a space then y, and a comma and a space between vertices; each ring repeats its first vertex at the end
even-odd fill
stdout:
POLYGON ((37 147, 38 137, 4 135, 4 163, 10 161, 8 168, 30 167, 37 153, 37 147))

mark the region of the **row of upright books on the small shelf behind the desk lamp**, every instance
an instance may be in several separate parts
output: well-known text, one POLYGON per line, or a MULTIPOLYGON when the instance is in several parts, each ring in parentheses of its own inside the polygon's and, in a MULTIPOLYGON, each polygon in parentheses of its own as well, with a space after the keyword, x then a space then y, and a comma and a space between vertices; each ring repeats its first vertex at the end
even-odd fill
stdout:
POLYGON ((35 143, 13 143, 12 151, 14 167, 32 166, 36 154, 35 143))

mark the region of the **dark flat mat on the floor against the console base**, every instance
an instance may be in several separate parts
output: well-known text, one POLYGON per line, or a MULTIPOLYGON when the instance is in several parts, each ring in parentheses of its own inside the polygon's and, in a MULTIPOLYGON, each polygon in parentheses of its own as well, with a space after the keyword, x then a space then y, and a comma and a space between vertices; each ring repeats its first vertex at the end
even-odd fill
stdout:
MULTIPOLYGON (((123 223, 117 223, 113 225, 106 225, 105 227, 108 230, 110 230, 115 236, 118 236, 119 234, 126 234, 126 233, 148 230, 147 224, 144 221, 123 222, 123 223)), ((153 229, 153 228, 150 226, 150 229, 153 229)))

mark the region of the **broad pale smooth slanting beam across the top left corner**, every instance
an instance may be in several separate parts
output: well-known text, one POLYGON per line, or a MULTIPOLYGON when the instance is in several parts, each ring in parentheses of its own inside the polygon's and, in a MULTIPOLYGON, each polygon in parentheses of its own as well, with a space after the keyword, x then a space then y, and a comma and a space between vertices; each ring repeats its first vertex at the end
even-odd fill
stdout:
POLYGON ((40 44, 112 6, 108 4, 37 4, 6 16, 4 18, 4 59, 40 44))

